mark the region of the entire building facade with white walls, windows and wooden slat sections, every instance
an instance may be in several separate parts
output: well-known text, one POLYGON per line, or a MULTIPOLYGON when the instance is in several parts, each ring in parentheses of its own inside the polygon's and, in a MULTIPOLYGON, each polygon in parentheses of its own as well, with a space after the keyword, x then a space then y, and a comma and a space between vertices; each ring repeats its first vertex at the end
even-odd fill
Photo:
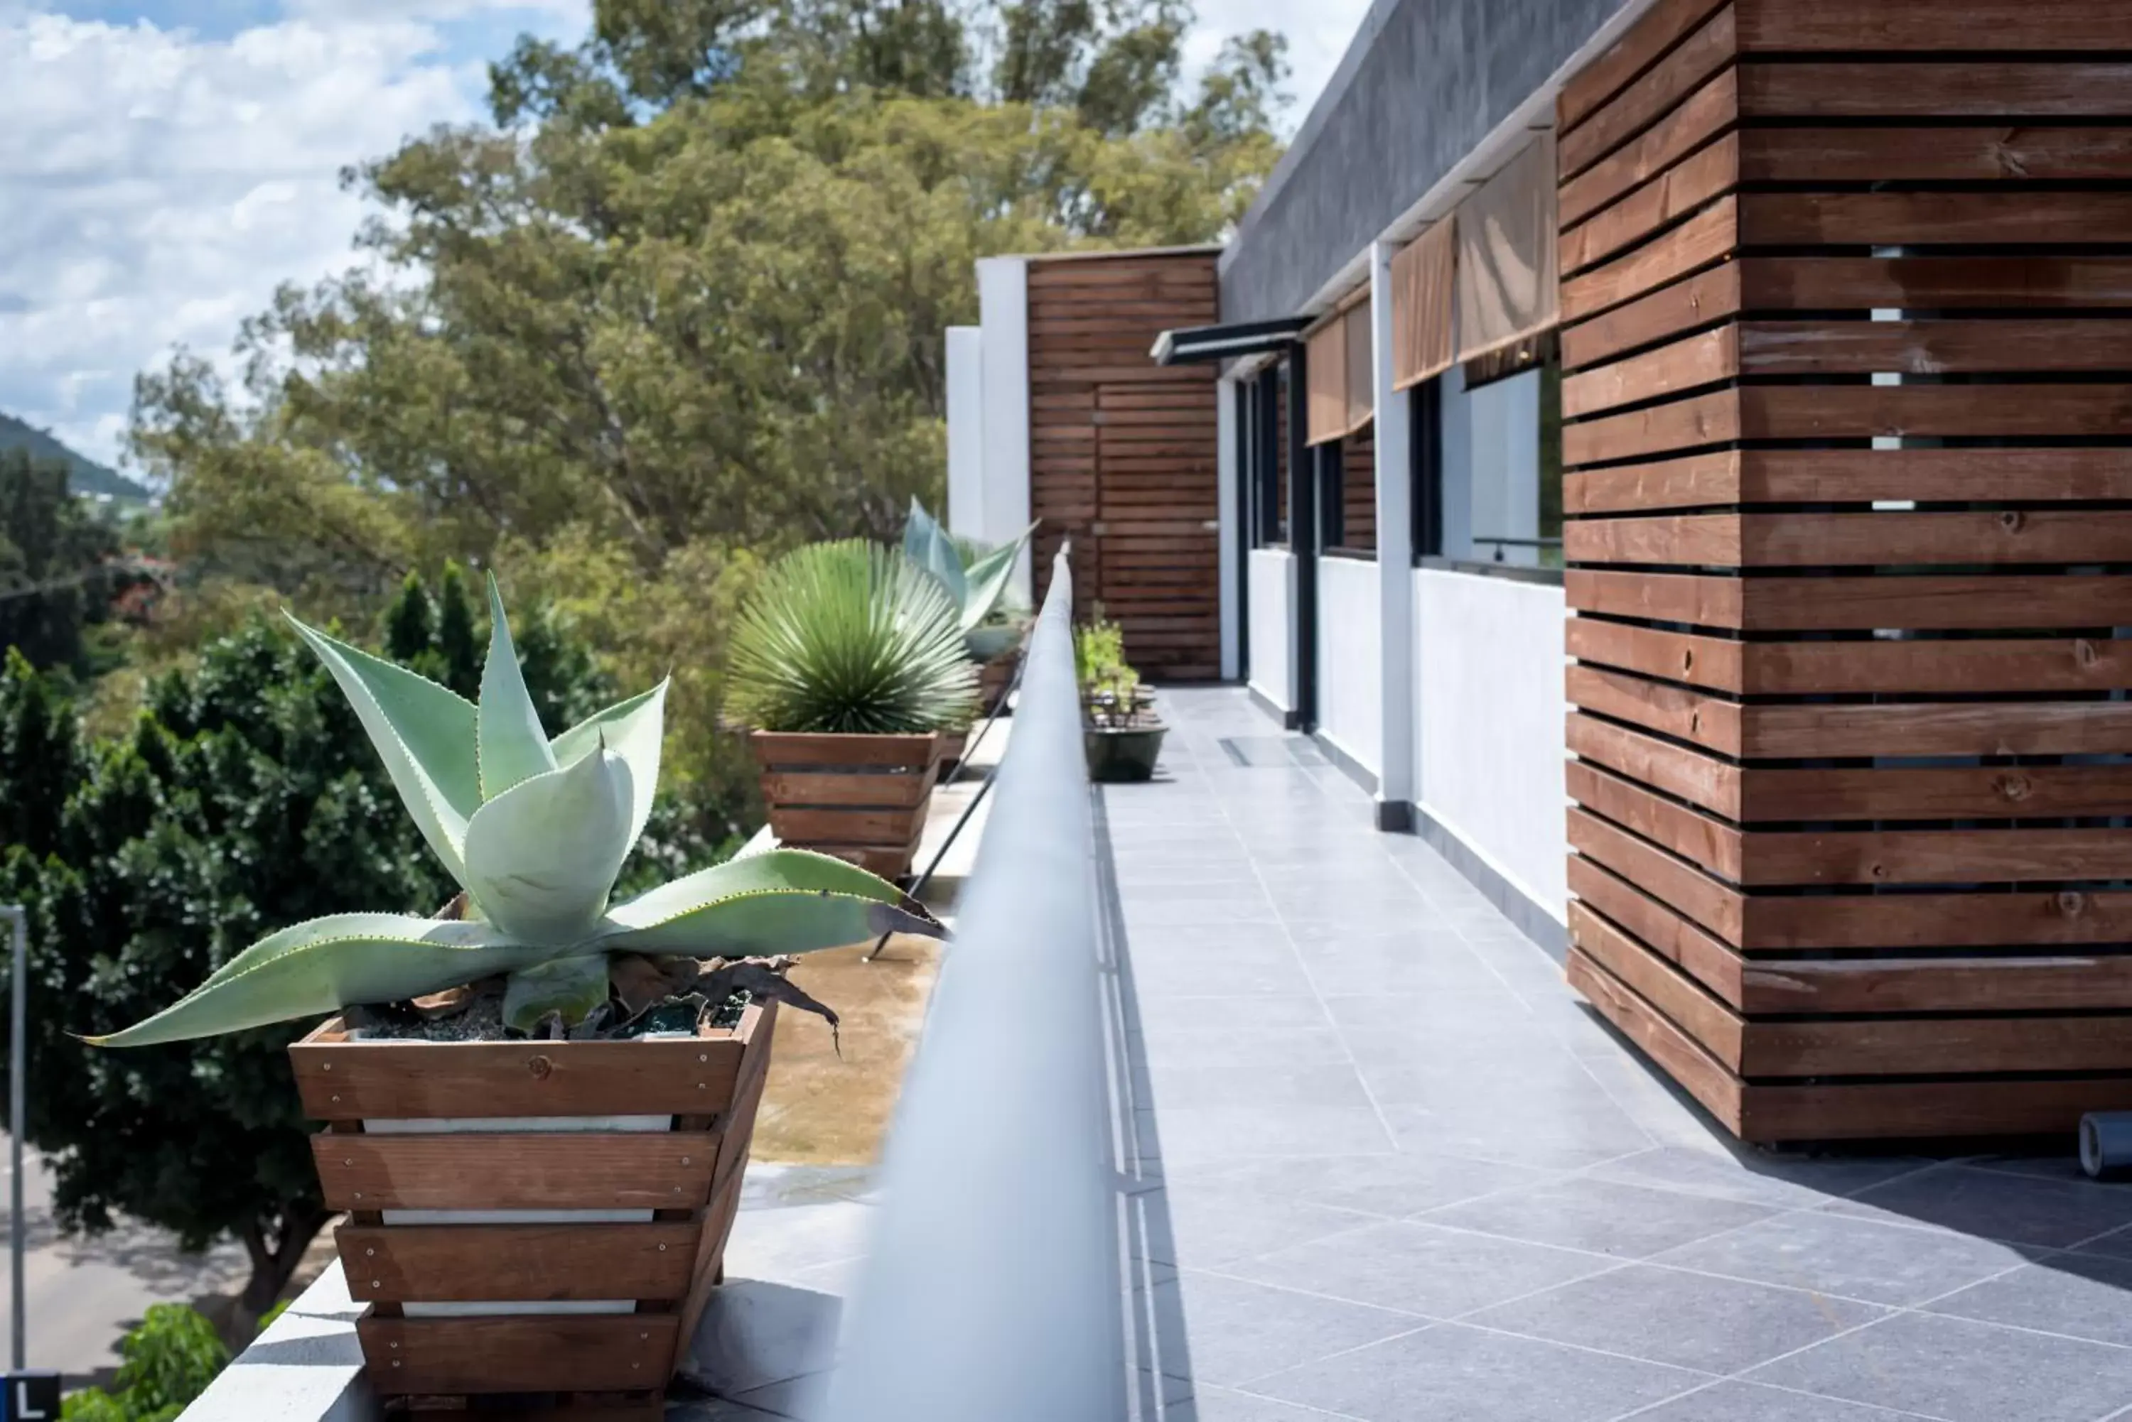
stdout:
POLYGON ((1735 1134, 2132 1106, 2126 53, 1379 0, 1220 254, 983 264, 951 518, 1072 539, 1735 1134))

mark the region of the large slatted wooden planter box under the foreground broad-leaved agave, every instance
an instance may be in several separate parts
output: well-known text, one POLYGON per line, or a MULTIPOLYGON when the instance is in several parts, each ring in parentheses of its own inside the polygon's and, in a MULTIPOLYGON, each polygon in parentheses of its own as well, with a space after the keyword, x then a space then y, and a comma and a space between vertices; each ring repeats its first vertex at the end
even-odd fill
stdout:
POLYGON ((659 1418, 723 1277, 774 1025, 763 1002, 695 1038, 348 1040, 333 1019, 294 1043, 371 1386, 659 1418))

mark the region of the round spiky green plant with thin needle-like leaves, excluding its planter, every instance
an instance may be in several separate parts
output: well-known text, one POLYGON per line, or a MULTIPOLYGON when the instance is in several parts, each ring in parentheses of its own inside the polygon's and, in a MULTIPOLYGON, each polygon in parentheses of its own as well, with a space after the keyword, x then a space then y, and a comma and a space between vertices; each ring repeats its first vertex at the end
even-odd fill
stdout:
POLYGON ((757 731, 934 731, 968 723, 974 699, 955 601, 893 548, 795 548, 733 625, 725 714, 757 731))

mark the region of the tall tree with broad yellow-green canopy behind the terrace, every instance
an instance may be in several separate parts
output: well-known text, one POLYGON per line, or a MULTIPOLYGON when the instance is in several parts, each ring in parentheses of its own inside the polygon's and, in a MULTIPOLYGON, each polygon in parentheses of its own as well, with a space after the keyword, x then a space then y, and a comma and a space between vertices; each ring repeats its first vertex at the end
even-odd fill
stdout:
POLYGON ((507 567, 620 680, 672 672, 672 774, 744 804, 723 614, 940 503, 972 262, 1207 241, 1273 164, 1277 36, 1179 90, 1183 0, 1075 2, 601 0, 578 47, 520 41, 492 124, 348 175, 365 266, 286 288, 235 384, 143 375, 175 548, 350 614, 507 567))

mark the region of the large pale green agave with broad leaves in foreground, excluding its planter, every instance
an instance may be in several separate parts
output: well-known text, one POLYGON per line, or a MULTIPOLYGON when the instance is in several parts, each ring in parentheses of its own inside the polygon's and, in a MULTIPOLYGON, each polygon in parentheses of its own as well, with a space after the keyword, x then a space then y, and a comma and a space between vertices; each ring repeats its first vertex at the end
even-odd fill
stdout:
POLYGON ((744 957, 885 932, 940 934, 887 880, 797 849, 729 859, 610 904, 659 785, 667 684, 550 740, 492 576, 488 608, 478 704, 290 616, 354 706, 422 838, 465 889, 463 917, 345 912, 296 923, 162 1013, 92 1043, 215 1036, 490 974, 507 974, 505 1023, 531 1032, 550 1017, 576 1025, 605 1002, 612 953, 744 957))

